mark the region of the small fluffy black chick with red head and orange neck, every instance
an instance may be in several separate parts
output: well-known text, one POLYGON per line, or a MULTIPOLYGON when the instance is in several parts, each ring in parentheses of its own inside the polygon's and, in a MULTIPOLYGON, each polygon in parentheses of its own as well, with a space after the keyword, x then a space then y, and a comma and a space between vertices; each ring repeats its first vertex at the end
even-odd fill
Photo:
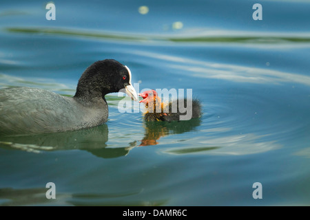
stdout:
POLYGON ((180 121, 199 118, 201 105, 198 100, 179 99, 163 103, 157 92, 152 89, 138 94, 143 98, 147 111, 144 113, 145 121, 180 121))

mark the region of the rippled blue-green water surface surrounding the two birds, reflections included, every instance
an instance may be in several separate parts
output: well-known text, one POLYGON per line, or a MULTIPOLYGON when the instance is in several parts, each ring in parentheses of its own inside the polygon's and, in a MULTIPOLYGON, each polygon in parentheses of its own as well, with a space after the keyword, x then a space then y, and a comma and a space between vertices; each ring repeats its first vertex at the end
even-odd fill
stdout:
POLYGON ((46 3, 1 1, 1 88, 73 96, 114 58, 137 92, 192 89, 203 116, 147 124, 110 94, 102 126, 1 137, 2 206, 309 206, 309 1, 54 1, 54 21, 46 3))

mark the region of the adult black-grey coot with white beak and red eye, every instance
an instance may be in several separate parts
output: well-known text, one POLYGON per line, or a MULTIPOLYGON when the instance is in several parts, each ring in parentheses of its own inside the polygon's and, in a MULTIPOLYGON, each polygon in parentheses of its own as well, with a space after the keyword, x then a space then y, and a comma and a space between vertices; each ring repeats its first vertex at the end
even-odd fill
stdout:
POLYGON ((74 97, 43 89, 0 89, 0 135, 50 133, 107 122, 105 95, 123 91, 138 100, 131 72, 118 61, 97 61, 83 72, 74 97))

